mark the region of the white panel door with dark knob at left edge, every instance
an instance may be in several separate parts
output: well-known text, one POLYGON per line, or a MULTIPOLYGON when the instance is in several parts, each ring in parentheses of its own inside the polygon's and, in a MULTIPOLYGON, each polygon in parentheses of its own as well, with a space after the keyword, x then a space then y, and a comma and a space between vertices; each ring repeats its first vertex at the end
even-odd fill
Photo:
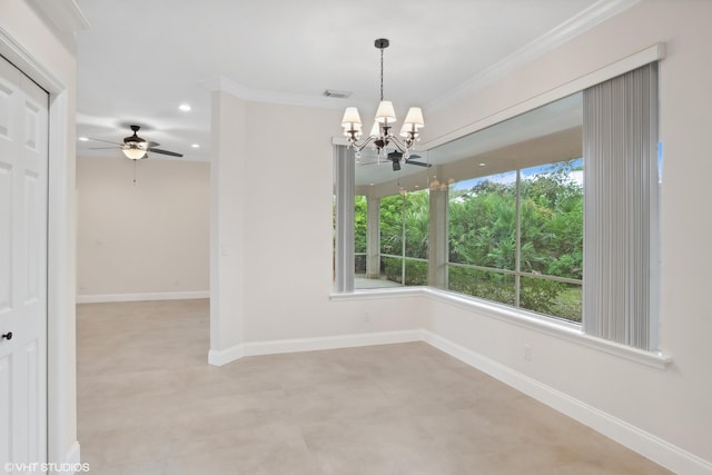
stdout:
POLYGON ((0 57, 0 473, 47 462, 48 102, 0 57))

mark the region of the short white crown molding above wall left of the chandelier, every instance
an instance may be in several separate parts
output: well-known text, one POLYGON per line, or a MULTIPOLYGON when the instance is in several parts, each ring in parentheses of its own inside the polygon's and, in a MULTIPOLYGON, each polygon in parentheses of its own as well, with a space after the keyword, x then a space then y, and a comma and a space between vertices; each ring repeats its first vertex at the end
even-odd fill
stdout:
POLYGON ((347 99, 334 97, 300 96, 286 92, 251 89, 224 76, 220 76, 218 79, 204 81, 202 87, 205 87, 209 91, 228 92, 243 100, 253 102, 276 103, 281 106, 317 107, 320 109, 344 109, 346 106, 354 106, 353 100, 349 101, 347 99))

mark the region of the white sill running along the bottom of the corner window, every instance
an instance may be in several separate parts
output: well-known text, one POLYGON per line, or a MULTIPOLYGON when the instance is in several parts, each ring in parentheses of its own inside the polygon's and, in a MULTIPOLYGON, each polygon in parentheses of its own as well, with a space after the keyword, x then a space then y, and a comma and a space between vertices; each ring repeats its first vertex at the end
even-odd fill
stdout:
POLYGON ((364 289, 355 290, 350 294, 330 294, 330 300, 370 300, 380 298, 400 298, 400 297, 428 297, 433 300, 454 305, 465 310, 476 310, 487 317, 506 321, 543 333, 556 338, 568 340, 589 348, 607 353, 620 358, 627 359, 633 363, 650 366, 656 369, 665 369, 671 363, 672 357, 662 352, 646 352, 611 342, 603 338, 593 337, 581 330, 581 325, 546 318, 533 313, 506 307, 495 303, 481 300, 465 295, 454 294, 433 287, 398 287, 383 289, 364 289))

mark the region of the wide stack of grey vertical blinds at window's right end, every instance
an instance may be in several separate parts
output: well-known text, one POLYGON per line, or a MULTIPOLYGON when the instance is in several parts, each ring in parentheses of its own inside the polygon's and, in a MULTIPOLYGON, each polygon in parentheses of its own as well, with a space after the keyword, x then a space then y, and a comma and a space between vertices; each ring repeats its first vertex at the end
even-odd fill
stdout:
POLYGON ((586 334, 656 349, 657 63, 584 91, 586 334))

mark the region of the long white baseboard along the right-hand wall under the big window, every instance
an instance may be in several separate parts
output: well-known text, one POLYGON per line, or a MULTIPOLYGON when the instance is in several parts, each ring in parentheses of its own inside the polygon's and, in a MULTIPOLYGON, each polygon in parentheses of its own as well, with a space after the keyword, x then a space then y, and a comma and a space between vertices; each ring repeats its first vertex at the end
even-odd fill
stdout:
POLYGON ((435 348, 500 379, 508 386, 572 417, 668 469, 685 475, 712 474, 712 463, 683 451, 660 437, 646 433, 624 420, 429 330, 423 330, 422 335, 423 339, 435 348))

